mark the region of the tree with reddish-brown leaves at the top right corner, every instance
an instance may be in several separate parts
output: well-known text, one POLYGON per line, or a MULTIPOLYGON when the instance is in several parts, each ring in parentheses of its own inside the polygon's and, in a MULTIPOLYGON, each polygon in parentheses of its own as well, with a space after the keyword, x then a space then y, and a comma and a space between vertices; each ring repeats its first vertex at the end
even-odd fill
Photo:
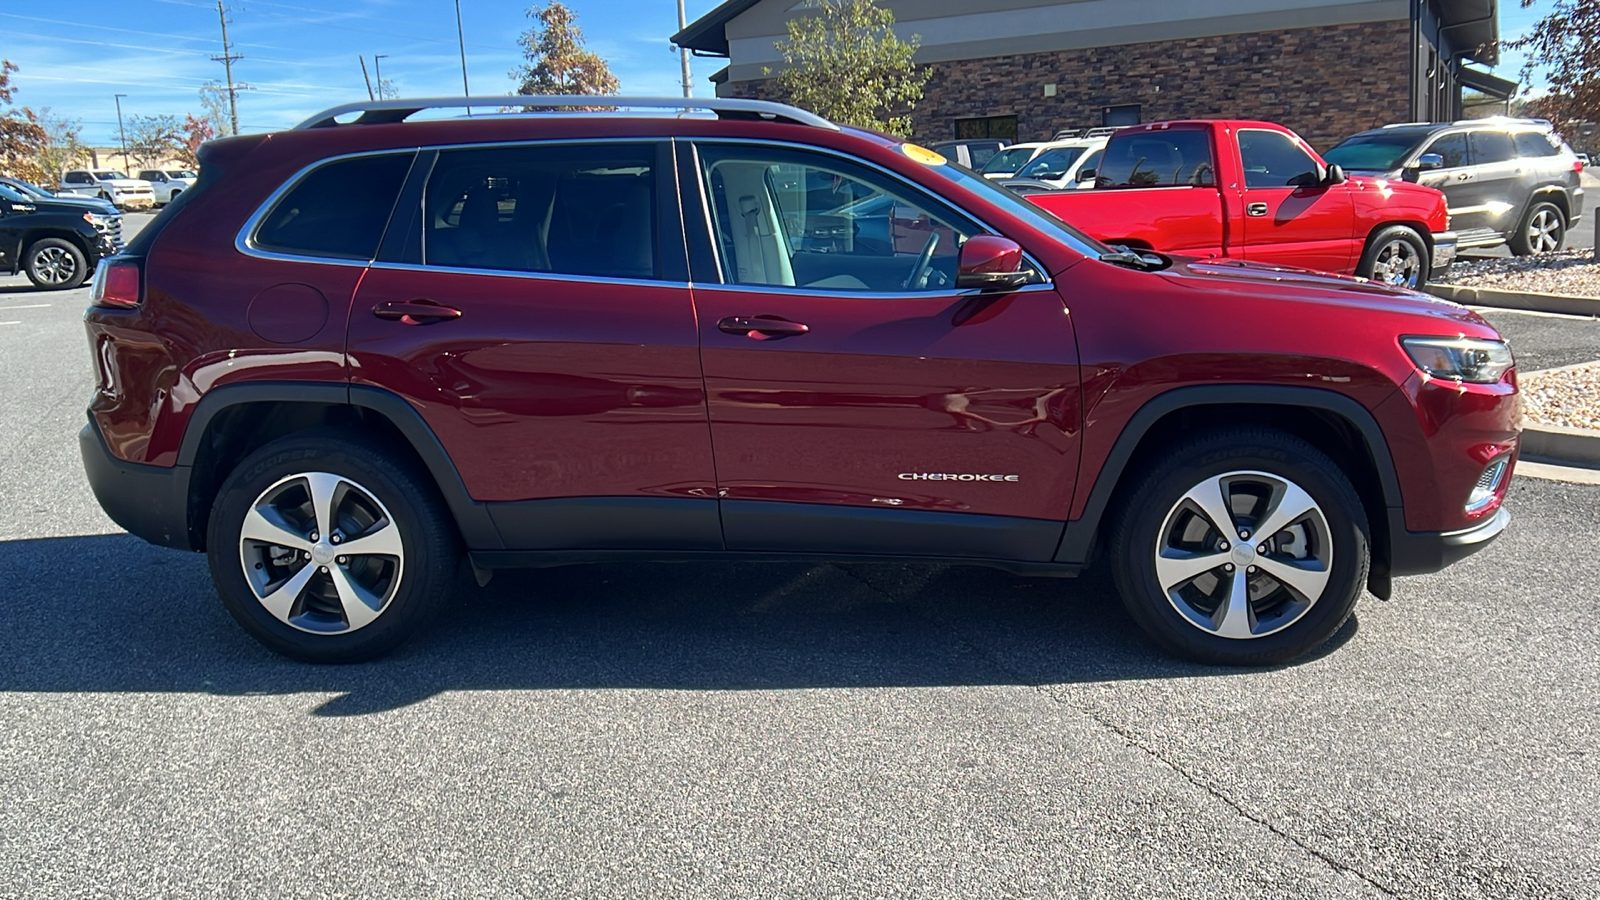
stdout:
MULTIPOLYGON (((1522 0, 1525 8, 1533 3, 1522 0)), ((1523 82, 1544 70, 1550 93, 1539 98, 1542 117, 1566 127, 1600 120, 1600 3, 1554 0, 1528 34, 1504 46, 1528 53, 1523 82)))

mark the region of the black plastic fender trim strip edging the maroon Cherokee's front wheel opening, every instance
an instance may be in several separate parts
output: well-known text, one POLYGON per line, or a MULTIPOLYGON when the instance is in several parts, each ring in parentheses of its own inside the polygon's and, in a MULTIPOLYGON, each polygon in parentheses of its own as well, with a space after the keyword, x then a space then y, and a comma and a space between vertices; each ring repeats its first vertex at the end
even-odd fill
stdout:
MULTIPOLYGON (((1110 506, 1110 498, 1115 493, 1117 485, 1122 482, 1123 474, 1126 474, 1128 461, 1133 460, 1133 453, 1138 450, 1139 442, 1144 440, 1144 436, 1157 421, 1162 420, 1162 416, 1181 408, 1211 405, 1309 407, 1333 413, 1349 421, 1355 426, 1362 440, 1366 442, 1366 450, 1373 455, 1373 463, 1378 466, 1378 480, 1382 488, 1384 506, 1389 509, 1398 509, 1402 506, 1400 477, 1395 474, 1394 456, 1389 452, 1389 439, 1384 437, 1384 431, 1378 426, 1378 420, 1373 418, 1373 413, 1357 400, 1336 391, 1326 391, 1322 388, 1291 388, 1286 384, 1200 384, 1192 388, 1174 388, 1152 397, 1139 407, 1139 412, 1133 413, 1133 418, 1130 418, 1128 424, 1123 426, 1122 434, 1117 436, 1117 442, 1106 456, 1106 464, 1101 466, 1099 474, 1094 476, 1094 488, 1090 492, 1090 500, 1083 508, 1083 516, 1067 522, 1066 530, 1061 533, 1061 544, 1056 548, 1054 560, 1075 565, 1088 564, 1090 554, 1094 549, 1094 538, 1101 528, 1102 519, 1106 517, 1106 509, 1110 506)), ((1080 477, 1088 476, 1088 472, 1078 474, 1080 477)), ((1394 519, 1394 516, 1390 516, 1390 519, 1394 519)), ((1387 554, 1387 548, 1382 548, 1382 552, 1387 554)))

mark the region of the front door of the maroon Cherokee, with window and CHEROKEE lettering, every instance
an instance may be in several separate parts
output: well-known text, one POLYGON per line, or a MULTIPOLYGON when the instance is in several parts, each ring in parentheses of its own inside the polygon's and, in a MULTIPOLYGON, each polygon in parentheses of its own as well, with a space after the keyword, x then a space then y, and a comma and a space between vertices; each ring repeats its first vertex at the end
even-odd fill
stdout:
POLYGON ((720 261, 694 304, 728 548, 1051 559, 1082 421, 1056 290, 957 290, 981 226, 853 160, 683 165, 720 261))

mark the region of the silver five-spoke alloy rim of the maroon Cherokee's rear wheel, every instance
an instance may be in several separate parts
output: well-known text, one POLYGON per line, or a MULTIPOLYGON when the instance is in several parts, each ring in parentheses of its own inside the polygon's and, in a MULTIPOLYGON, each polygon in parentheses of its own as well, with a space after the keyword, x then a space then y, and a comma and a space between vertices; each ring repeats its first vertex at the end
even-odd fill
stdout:
POLYGON ((330 472, 283 477, 250 504, 238 559, 256 601, 317 634, 371 625, 405 573, 405 546, 370 490, 330 472))

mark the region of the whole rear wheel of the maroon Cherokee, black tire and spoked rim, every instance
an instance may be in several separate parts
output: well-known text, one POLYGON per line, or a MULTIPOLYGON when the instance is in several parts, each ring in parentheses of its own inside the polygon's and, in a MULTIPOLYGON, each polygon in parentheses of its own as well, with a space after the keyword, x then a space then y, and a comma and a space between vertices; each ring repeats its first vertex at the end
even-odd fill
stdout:
POLYGON ((454 524, 432 480, 413 466, 392 460, 379 447, 341 431, 285 437, 246 456, 216 495, 206 548, 211 580, 227 612, 256 641, 309 663, 370 660, 414 636, 450 596, 461 557, 454 524), (350 554, 302 560, 312 551, 338 552, 328 541, 341 540, 339 528, 330 528, 330 535, 315 535, 322 540, 315 544, 307 541, 306 546, 312 549, 304 554, 283 549, 291 544, 246 543, 245 517, 269 490, 278 492, 275 496, 283 503, 264 506, 274 514, 274 520, 285 532, 310 536, 304 528, 315 530, 315 519, 298 516, 306 509, 294 509, 294 501, 298 496, 312 496, 310 482, 296 476, 314 472, 338 476, 341 480, 338 490, 330 493, 334 498, 330 506, 341 514, 338 522, 344 530, 350 532, 344 538, 350 541, 349 546, 392 525, 398 528, 402 552, 394 557, 350 554), (290 509, 290 514, 280 516, 283 509, 290 509), (374 524, 370 512, 386 516, 378 516, 374 524), (278 549, 272 549, 274 546, 278 549), (288 562, 280 562, 282 557, 288 562), (246 565, 253 570, 248 577, 246 565), (314 567, 317 572, 304 573, 301 588, 293 588, 301 570, 314 567), (330 569, 339 572, 330 573, 330 569), (350 607, 341 607, 342 594, 334 575, 346 586, 360 585, 379 601, 376 612, 370 613, 370 623, 352 628, 354 617, 341 612, 350 607), (262 581, 261 591, 266 596, 291 596, 288 602, 293 605, 288 607, 286 618, 269 612, 267 601, 259 599, 251 578, 262 581), (290 589, 275 594, 285 585, 290 589), (378 597, 378 593, 384 596, 378 597))

